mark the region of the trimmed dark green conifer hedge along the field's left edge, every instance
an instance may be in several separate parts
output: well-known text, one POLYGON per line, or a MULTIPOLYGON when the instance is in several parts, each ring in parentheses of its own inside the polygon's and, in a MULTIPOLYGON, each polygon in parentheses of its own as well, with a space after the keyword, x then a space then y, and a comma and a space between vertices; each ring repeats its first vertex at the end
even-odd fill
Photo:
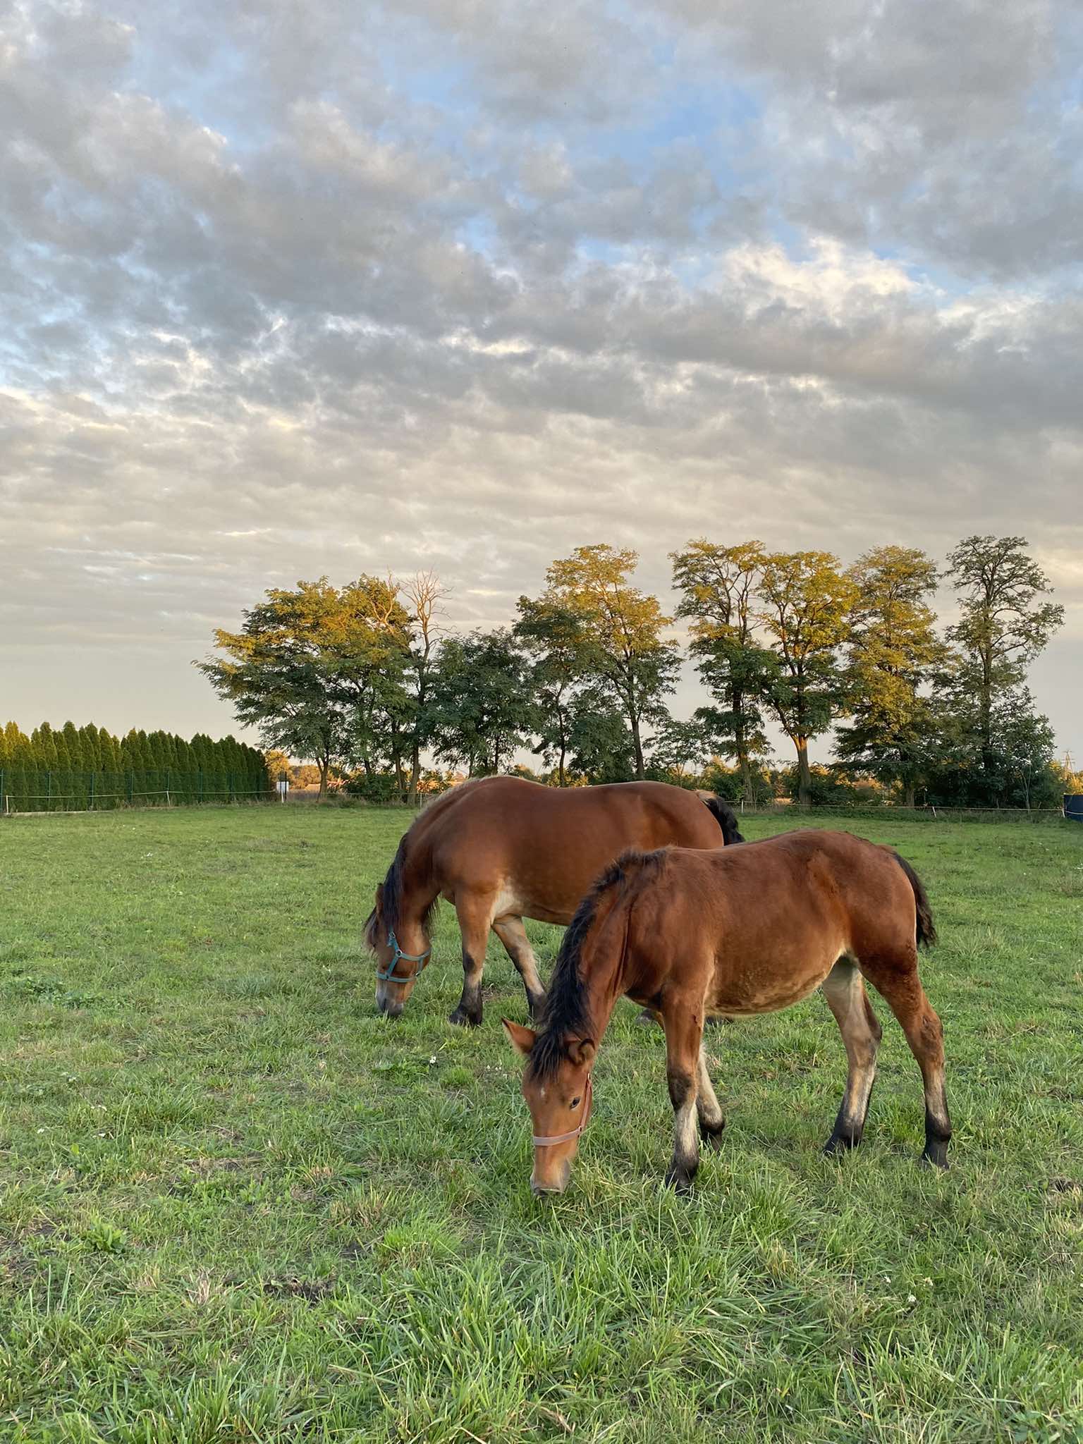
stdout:
POLYGON ((9 812, 231 801, 266 796, 270 786, 263 752, 231 736, 116 738, 92 722, 59 731, 42 722, 29 736, 9 722, 0 732, 0 807, 9 812))

